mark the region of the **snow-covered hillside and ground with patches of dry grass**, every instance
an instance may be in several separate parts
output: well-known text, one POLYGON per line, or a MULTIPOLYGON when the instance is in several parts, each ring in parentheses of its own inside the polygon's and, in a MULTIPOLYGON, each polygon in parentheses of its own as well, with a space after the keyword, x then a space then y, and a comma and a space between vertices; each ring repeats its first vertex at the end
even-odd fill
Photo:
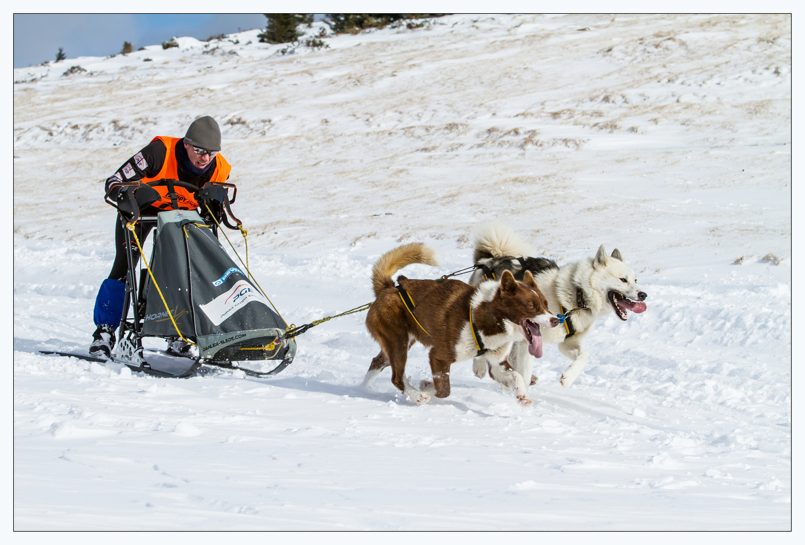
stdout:
POLYGON ((16 530, 791 527, 790 16, 453 15, 287 55, 257 33, 14 70, 16 530), (485 219, 559 264, 618 248, 648 310, 602 318, 570 388, 545 346, 526 408, 469 361, 423 407, 390 371, 361 389, 363 313, 272 379, 38 354, 94 330, 103 180, 200 115, 288 322, 371 301, 401 242, 443 258, 408 277, 468 266, 485 219))

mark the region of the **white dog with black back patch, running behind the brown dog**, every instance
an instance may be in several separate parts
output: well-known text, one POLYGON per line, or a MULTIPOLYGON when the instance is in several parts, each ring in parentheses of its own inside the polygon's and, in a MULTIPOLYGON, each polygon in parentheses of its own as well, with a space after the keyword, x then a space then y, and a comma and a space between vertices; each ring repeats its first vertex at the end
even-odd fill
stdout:
MULTIPOLYGON (((534 276, 540 291, 547 298, 552 314, 563 314, 564 324, 543 331, 543 342, 556 343, 559 352, 572 360, 562 373, 560 382, 568 387, 578 378, 587 364, 587 353, 581 348, 581 339, 592 330, 598 318, 610 311, 621 320, 629 318, 627 311, 646 311, 646 292, 638 289, 634 271, 623 262, 617 248, 611 256, 606 255, 604 244, 595 257, 578 260, 559 267, 554 260, 529 257, 534 254, 530 246, 518 238, 503 223, 484 222, 477 227, 475 236, 476 271, 469 279, 470 285, 479 285, 486 279, 500 278, 505 270, 521 279, 526 270, 534 276)), ((541 355, 541 354, 539 354, 541 355)), ((537 357, 539 357, 539 355, 537 357)), ((509 363, 524 379, 531 377, 534 359, 528 353, 526 342, 515 342, 509 354, 509 363)), ((501 370, 489 367, 493 379, 502 376, 501 370)), ((473 372, 477 377, 486 375, 485 360, 473 359, 473 372)), ((499 381, 500 382, 500 381, 499 381)))

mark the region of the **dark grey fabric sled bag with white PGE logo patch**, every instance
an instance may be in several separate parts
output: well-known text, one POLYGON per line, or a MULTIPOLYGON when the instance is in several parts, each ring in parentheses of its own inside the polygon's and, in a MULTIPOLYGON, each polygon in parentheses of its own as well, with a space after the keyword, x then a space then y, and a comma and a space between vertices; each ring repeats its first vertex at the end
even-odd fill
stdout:
MULTIPOLYGON (((151 271, 176 326, 185 338, 196 340, 202 358, 282 359, 288 353, 287 343, 270 357, 262 350, 241 352, 235 347, 265 345, 285 333, 287 324, 270 308, 266 297, 237 267, 196 211, 159 213, 151 271), (229 350, 224 350, 227 347, 229 350)), ((142 333, 176 337, 150 278, 146 297, 142 333)))

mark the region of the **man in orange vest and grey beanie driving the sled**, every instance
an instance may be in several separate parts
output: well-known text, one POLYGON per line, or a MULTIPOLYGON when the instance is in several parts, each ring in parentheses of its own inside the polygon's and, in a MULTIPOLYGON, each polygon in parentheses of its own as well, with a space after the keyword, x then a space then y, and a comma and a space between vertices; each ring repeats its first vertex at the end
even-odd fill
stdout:
MULTIPOLYGON (((184 138, 155 137, 150 144, 142 148, 138 154, 130 158, 117 172, 106 179, 105 189, 109 196, 116 200, 117 191, 122 184, 131 182, 151 182, 162 178, 192 183, 196 187, 207 182, 225 182, 229 178, 231 166, 219 153, 221 151, 221 129, 217 122, 209 116, 199 117, 188 127, 184 138)), ((154 188, 162 197, 161 200, 144 208, 142 215, 156 215, 160 211, 196 210, 199 206, 193 199, 192 192, 184 187, 175 187, 175 205, 167 193, 167 187, 154 188)), ((123 300, 126 289, 126 236, 123 222, 116 219, 114 230, 115 255, 112 271, 101 284, 95 299, 94 320, 97 329, 93 333, 93 342, 89 346, 89 354, 98 358, 109 358, 115 343, 114 332, 120 326, 123 312, 123 300)), ((151 227, 135 227, 138 239, 142 242, 151 231, 151 227)), ((134 264, 139 260, 139 251, 133 245, 134 264)), ((168 348, 175 354, 187 354, 190 349, 184 341, 175 341, 168 348)))

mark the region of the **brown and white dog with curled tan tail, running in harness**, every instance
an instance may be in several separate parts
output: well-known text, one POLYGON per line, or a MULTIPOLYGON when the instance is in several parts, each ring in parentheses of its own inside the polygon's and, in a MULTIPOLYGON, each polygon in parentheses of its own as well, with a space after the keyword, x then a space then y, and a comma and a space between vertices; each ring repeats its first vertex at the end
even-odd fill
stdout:
MULTIPOLYGON (((427 402, 430 395, 412 387, 405 375, 408 349, 419 341, 431 347, 432 392, 447 397, 452 363, 483 357, 497 368, 506 360, 512 342, 524 340, 541 349, 539 326, 559 323, 527 271, 522 282, 506 271, 499 283, 487 281, 477 288, 457 280, 410 280, 402 275, 397 277, 399 287, 395 286, 391 275, 414 263, 438 264, 434 250, 420 243, 394 248, 374 264, 375 301, 366 315, 366 329, 380 344, 381 353, 369 366, 366 387, 390 365, 394 386, 416 404, 427 402)), ((502 382, 518 400, 530 404, 522 377, 516 371, 505 372, 510 376, 502 382)))

